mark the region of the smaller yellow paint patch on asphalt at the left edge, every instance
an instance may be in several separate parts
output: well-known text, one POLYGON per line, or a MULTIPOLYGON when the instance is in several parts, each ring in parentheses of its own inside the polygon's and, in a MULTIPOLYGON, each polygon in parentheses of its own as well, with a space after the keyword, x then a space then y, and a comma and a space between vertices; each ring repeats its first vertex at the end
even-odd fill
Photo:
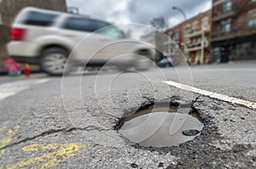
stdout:
MULTIPOLYGON (((2 157, 2 155, 3 155, 4 151, 5 151, 5 149, 3 149, 3 147, 10 143, 12 138, 15 136, 15 133, 18 132, 19 128, 20 128, 19 126, 16 126, 16 127, 12 128, 12 129, 9 129, 8 130, 8 135, 6 137, 4 137, 4 138, 0 138, 0 149, 1 149, 0 150, 0 158, 2 157)), ((6 129, 6 127, 1 127, 0 128, 0 132, 2 132, 5 129, 6 129)))

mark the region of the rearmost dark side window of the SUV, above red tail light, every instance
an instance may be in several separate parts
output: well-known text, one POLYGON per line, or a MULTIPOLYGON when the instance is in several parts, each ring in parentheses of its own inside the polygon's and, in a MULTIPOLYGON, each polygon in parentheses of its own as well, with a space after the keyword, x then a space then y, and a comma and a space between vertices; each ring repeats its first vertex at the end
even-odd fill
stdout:
POLYGON ((36 11, 29 11, 25 19, 22 21, 26 25, 52 25, 58 14, 46 14, 36 11))

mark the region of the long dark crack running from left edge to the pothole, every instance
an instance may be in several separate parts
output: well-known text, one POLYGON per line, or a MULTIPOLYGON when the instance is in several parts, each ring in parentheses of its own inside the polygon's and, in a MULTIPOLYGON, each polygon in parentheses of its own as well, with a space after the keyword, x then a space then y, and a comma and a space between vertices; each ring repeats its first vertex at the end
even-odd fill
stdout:
POLYGON ((93 126, 93 125, 90 125, 90 126, 87 126, 87 127, 71 127, 71 128, 61 128, 61 129, 50 129, 48 131, 41 132, 40 134, 35 135, 33 137, 24 138, 24 139, 21 139, 18 142, 2 146, 2 147, 0 147, 0 151, 3 150, 3 149, 9 148, 9 147, 15 146, 17 144, 26 143, 27 141, 31 141, 33 139, 36 139, 36 138, 39 138, 39 137, 44 137, 44 136, 47 136, 47 135, 50 135, 50 134, 55 134, 55 133, 58 133, 58 132, 66 132, 66 133, 67 132, 73 132, 73 131, 88 131, 88 132, 90 132, 90 131, 99 131, 99 132, 102 132, 102 131, 110 131, 110 130, 112 130, 112 129, 105 129, 105 128, 96 127, 96 126, 93 126))

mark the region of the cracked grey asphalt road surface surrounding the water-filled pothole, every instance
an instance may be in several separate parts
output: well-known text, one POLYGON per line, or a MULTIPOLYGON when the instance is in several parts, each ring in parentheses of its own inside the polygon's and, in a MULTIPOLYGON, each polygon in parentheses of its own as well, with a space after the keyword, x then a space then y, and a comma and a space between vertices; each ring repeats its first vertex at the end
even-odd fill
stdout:
POLYGON ((255 168, 255 84, 255 63, 2 76, 0 168, 255 168), (154 148, 117 131, 123 116, 159 103, 195 111, 201 133, 154 148))

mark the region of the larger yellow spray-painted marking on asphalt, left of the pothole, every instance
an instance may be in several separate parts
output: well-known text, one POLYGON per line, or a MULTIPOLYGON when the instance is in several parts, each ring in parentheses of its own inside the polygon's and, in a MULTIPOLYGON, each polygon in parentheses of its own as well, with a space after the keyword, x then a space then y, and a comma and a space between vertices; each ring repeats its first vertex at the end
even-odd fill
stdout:
MULTIPOLYGON (((57 166, 61 161, 66 161, 68 158, 78 154, 78 150, 86 148, 85 144, 30 144, 22 148, 26 152, 38 151, 40 149, 56 150, 45 155, 35 156, 25 161, 19 161, 8 166, 0 166, 0 168, 20 168, 29 165, 38 165, 35 168, 49 168, 57 166), (41 164, 38 164, 41 163, 41 164), (43 164, 42 164, 43 163, 43 164)), ((34 168, 34 167, 33 167, 34 168)))

